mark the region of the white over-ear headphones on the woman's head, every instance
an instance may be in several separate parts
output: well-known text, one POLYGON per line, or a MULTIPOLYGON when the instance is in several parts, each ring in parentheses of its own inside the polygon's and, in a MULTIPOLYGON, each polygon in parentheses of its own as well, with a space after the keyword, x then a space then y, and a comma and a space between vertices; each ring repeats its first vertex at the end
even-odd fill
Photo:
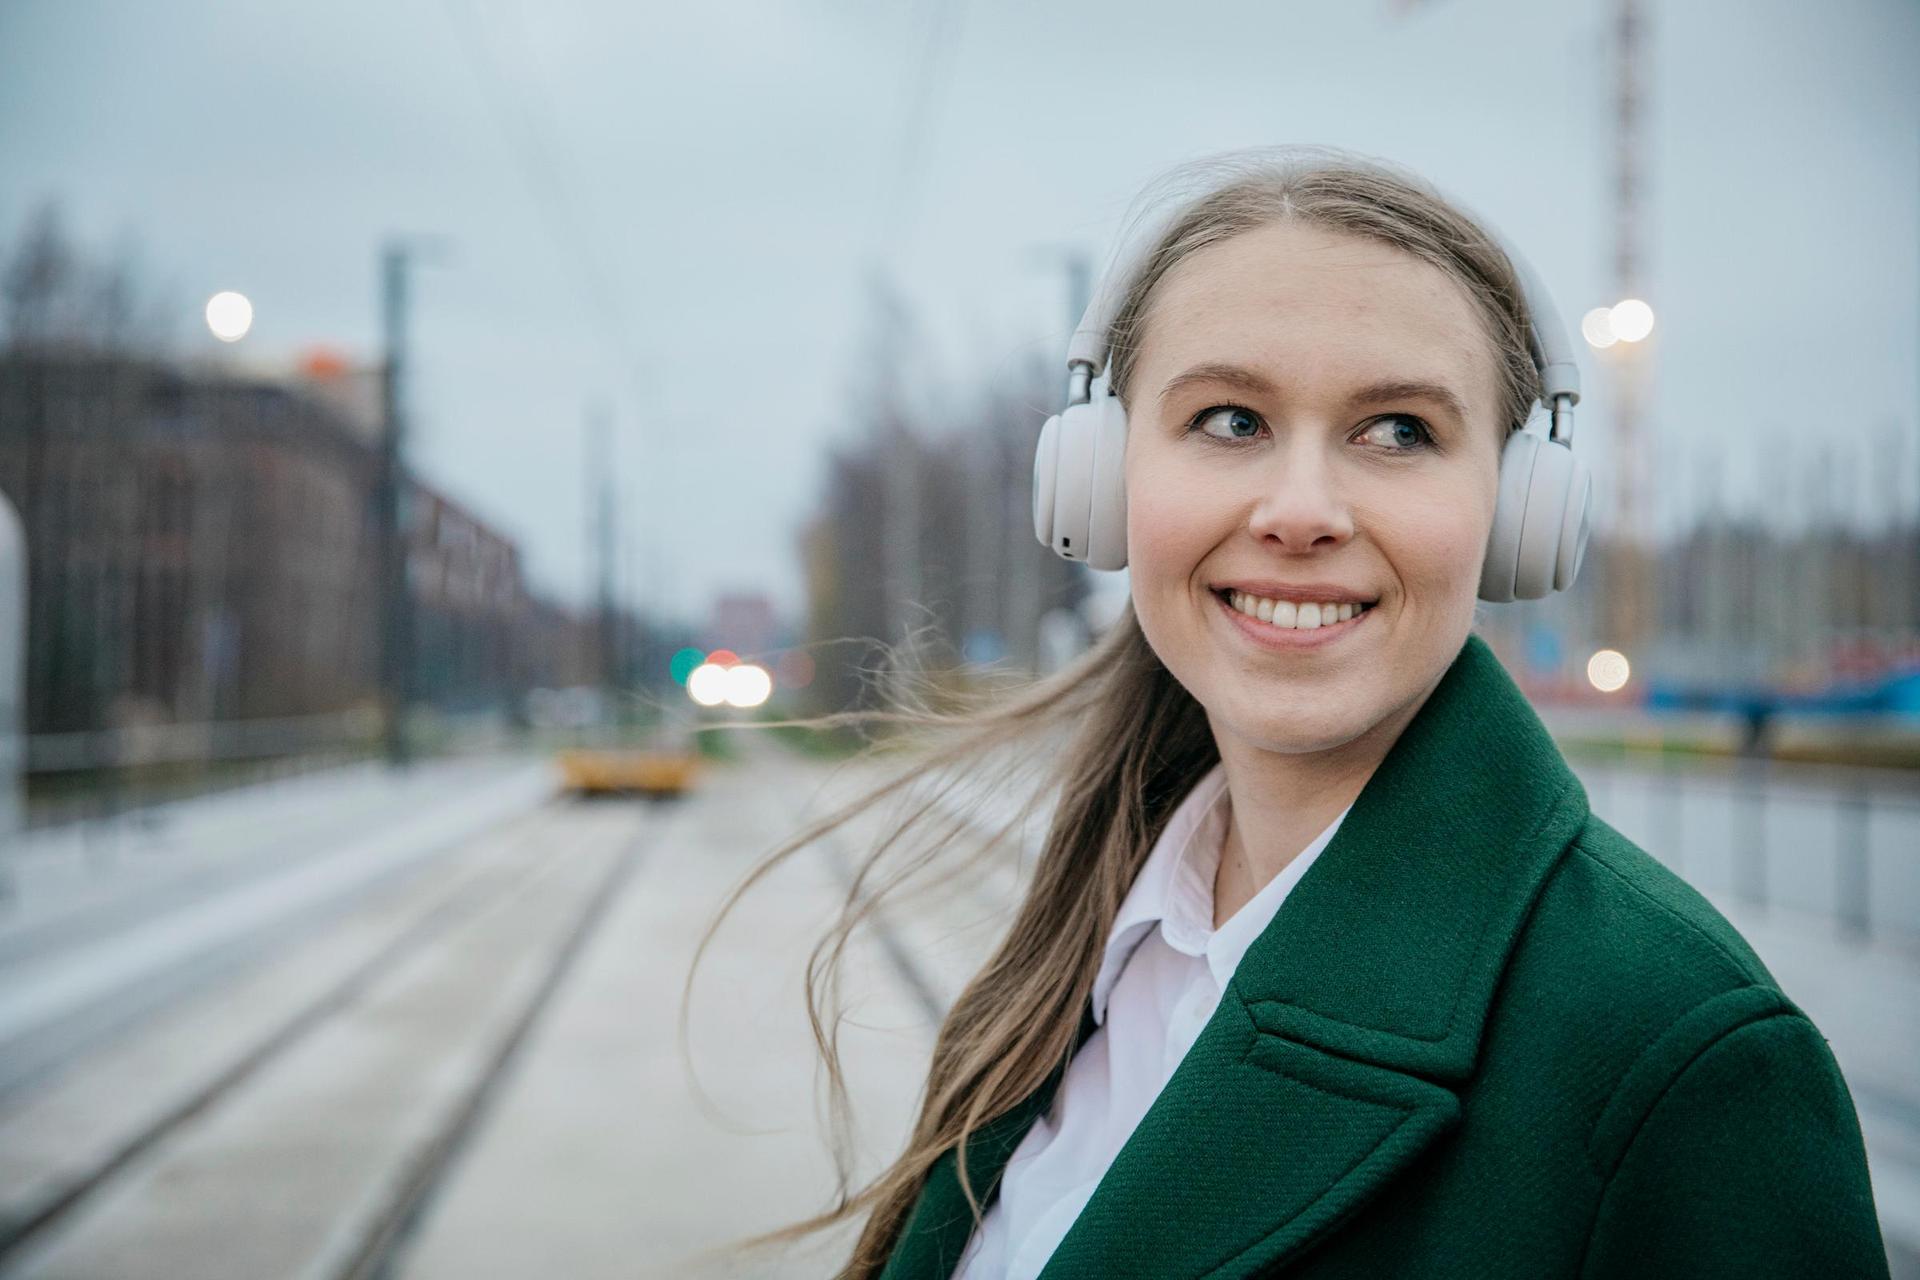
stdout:
MULTIPOLYGON (((1164 226, 1165 223, 1162 223, 1164 226)), ((1486 228, 1486 223, 1480 221, 1486 228)), ((1492 234, 1492 232, 1490 232, 1492 234)), ((1528 347, 1540 370, 1540 399, 1551 430, 1515 424, 1500 455, 1500 501, 1480 570, 1482 601, 1536 601, 1565 591, 1580 572, 1592 520, 1594 480, 1572 451, 1572 407, 1580 367, 1567 328, 1532 267, 1513 246, 1494 240, 1526 294, 1528 347)), ((1094 290, 1068 345, 1068 407, 1041 428, 1033 459, 1033 532, 1054 555, 1091 568, 1127 566, 1127 411, 1102 378, 1108 334, 1119 301, 1152 244, 1121 257, 1094 290)))

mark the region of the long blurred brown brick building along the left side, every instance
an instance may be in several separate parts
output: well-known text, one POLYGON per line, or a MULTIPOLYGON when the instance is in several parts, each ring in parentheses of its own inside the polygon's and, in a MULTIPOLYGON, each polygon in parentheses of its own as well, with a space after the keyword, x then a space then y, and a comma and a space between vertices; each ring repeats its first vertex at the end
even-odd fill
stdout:
MULTIPOLYGON (((0 351, 0 491, 29 547, 29 733, 378 700, 376 422, 365 380, 0 351)), ((499 704, 564 628, 515 543, 407 495, 417 691, 499 704)), ((566 666, 564 654, 555 654, 566 666)))

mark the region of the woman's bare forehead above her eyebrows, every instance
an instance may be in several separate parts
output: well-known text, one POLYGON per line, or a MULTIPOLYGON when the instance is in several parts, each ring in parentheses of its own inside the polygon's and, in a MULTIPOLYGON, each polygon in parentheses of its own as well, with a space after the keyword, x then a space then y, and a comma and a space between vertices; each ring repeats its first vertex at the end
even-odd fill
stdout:
POLYGON ((1498 355, 1465 288, 1379 240, 1273 223, 1187 255, 1154 288, 1135 391, 1202 363, 1283 384, 1407 378, 1498 403, 1498 355))

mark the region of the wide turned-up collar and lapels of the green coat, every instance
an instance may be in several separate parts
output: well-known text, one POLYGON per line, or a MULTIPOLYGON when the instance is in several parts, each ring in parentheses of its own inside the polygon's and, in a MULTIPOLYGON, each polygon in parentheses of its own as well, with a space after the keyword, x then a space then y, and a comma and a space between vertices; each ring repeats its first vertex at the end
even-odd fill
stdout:
MULTIPOLYGON (((1386 1186, 1457 1123, 1513 940, 1586 814, 1540 718, 1469 635, 1043 1280, 1252 1276, 1386 1186)), ((975 1134, 975 1186, 996 1186, 1058 1080, 975 1134)), ((887 1280, 948 1276, 966 1247, 952 1163, 929 1174, 887 1280)))

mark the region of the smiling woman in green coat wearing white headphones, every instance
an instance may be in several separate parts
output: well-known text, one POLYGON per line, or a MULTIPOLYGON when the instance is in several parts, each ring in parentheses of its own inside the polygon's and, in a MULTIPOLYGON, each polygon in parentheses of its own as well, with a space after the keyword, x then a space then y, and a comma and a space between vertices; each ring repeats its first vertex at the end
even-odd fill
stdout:
POLYGON ((1075 731, 1025 900, 906 1151, 793 1232, 864 1213, 885 1280, 1885 1274, 1826 1042, 1471 635, 1553 317, 1409 175, 1202 173, 1094 326, 1131 608, 927 766, 1075 731))

